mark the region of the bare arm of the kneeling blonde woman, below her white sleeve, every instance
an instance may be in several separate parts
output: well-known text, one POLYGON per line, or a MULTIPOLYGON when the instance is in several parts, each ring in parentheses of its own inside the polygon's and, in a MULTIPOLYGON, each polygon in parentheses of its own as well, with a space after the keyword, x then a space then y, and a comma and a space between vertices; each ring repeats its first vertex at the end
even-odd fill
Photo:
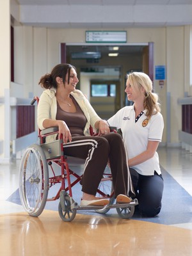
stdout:
POLYGON ((132 157, 128 160, 129 167, 132 167, 137 164, 141 164, 148 159, 152 158, 156 153, 157 147, 159 145, 159 141, 149 140, 147 144, 147 150, 139 154, 138 156, 132 157))

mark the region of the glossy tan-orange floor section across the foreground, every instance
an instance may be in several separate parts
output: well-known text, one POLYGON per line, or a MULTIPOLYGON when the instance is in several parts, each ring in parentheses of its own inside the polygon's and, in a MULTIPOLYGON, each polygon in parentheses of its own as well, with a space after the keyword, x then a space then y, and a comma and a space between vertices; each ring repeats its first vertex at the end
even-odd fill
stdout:
POLYGON ((0 253, 6 256, 192 254, 192 230, 146 221, 77 214, 68 223, 46 210, 38 218, 19 213, 0 220, 0 253))

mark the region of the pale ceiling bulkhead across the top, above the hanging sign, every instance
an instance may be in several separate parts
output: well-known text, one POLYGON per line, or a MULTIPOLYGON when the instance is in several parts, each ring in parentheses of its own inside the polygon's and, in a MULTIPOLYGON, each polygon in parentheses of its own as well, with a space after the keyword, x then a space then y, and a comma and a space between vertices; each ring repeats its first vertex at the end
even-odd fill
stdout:
POLYGON ((12 0, 20 23, 47 28, 126 29, 192 24, 192 0, 12 0))

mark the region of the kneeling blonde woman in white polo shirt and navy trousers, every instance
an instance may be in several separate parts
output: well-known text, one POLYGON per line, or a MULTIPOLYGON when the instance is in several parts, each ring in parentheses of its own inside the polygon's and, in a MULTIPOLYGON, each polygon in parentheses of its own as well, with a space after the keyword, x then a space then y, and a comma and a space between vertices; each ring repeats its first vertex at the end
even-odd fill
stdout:
POLYGON ((152 92, 152 81, 142 72, 128 75, 125 93, 134 104, 120 109, 108 123, 122 130, 139 211, 145 216, 156 216, 161 211, 163 195, 156 151, 164 127, 158 96, 152 92))

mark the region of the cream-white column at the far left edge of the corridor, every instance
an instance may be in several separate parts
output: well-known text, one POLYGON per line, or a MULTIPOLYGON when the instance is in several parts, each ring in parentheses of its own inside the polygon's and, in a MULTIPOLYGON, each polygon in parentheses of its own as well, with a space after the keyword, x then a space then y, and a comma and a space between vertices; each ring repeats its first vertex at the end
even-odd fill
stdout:
POLYGON ((9 100, 5 102, 10 92, 10 0, 1 0, 0 10, 0 162, 2 162, 10 159, 10 108, 7 107, 9 100), (8 145, 5 145, 7 143, 8 145))

